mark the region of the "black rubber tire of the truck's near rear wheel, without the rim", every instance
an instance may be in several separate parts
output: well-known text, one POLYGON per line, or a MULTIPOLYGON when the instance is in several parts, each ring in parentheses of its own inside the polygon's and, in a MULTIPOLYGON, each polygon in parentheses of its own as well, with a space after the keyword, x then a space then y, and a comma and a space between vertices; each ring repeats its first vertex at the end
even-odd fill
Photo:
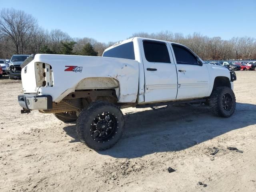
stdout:
POLYGON ((122 111, 114 104, 105 101, 92 102, 88 108, 84 108, 76 122, 76 132, 80 141, 94 150, 106 150, 114 146, 122 137, 124 131, 124 115, 122 111), (117 130, 114 136, 104 142, 96 141, 90 134, 91 126, 95 118, 104 112, 113 114, 117 122, 117 130))

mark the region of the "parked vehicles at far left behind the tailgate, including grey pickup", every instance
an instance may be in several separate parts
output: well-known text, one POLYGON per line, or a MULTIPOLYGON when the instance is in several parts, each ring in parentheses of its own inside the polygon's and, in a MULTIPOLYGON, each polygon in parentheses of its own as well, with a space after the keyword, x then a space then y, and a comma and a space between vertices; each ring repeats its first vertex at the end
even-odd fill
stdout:
POLYGON ((15 79, 21 77, 20 65, 28 58, 29 55, 13 55, 9 59, 0 59, 0 77, 2 75, 8 75, 9 79, 15 79))

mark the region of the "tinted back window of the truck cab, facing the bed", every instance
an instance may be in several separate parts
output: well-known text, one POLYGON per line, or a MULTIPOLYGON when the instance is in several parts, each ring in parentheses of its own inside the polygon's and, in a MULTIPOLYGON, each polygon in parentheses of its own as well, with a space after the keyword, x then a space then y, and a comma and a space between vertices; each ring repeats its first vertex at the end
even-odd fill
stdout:
POLYGON ((105 51, 102 56, 135 60, 133 42, 118 45, 108 51, 105 51))

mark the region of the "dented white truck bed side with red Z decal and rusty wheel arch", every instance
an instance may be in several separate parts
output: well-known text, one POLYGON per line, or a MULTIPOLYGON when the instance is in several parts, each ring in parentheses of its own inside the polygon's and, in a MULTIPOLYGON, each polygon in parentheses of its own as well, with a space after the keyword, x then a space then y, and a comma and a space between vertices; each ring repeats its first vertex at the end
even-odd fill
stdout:
MULTIPOLYGON (((115 88, 118 102, 136 102, 138 61, 95 56, 36 54, 34 60, 27 65, 28 70, 30 68, 34 70, 36 62, 52 66, 53 86, 40 87, 38 92, 39 95, 51 95, 54 102, 60 102, 76 89, 101 88, 101 86, 115 88), (92 83, 93 78, 97 78, 98 83, 88 85, 92 83)), ((22 69, 22 81, 29 78, 22 69)), ((24 86, 30 87, 30 84, 25 83, 24 86)))

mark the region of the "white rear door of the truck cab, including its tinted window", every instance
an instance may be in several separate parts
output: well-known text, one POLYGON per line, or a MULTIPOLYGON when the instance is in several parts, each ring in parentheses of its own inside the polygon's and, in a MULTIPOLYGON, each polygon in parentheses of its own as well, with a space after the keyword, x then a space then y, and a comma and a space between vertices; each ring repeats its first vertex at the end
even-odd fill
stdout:
POLYGON ((145 74, 145 102, 175 100, 177 72, 168 42, 140 40, 145 74))

